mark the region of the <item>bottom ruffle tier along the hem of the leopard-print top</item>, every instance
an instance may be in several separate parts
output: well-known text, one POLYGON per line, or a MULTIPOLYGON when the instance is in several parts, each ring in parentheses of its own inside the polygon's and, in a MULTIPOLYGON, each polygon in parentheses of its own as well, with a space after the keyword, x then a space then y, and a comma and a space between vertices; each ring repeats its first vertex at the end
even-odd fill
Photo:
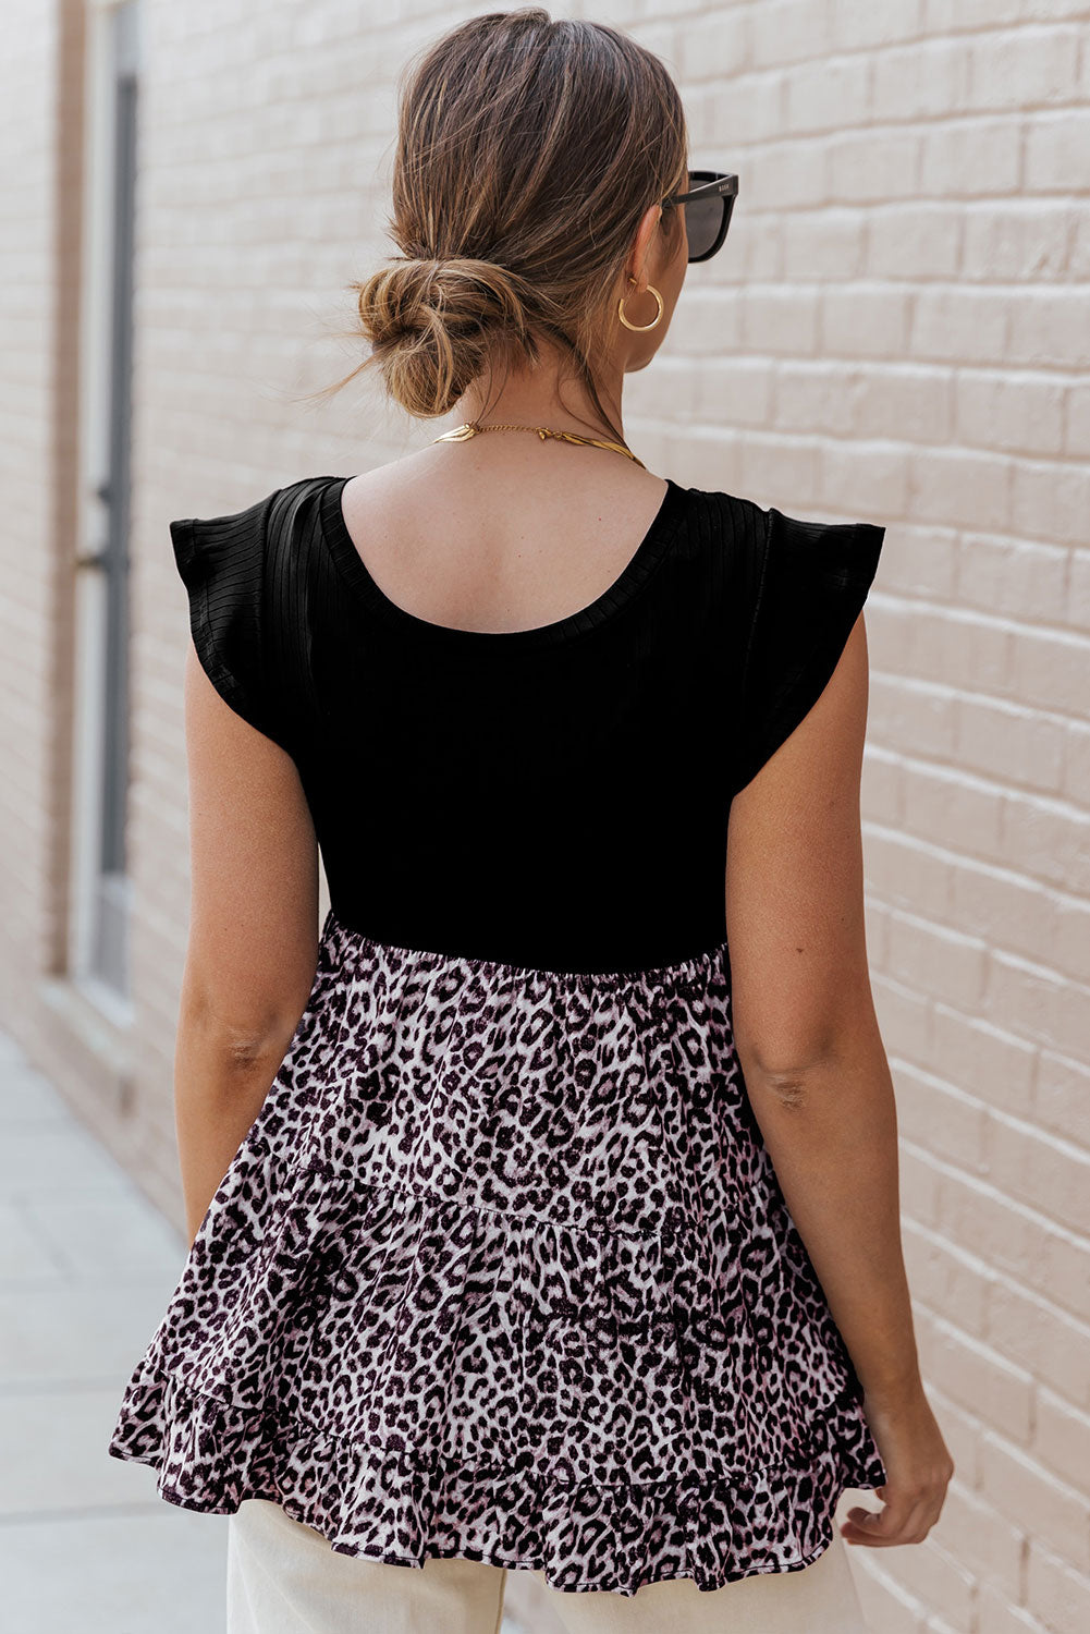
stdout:
POLYGON ((801 1466, 611 1484, 561 1480, 526 1451, 477 1469, 423 1464, 409 1449, 227 1407, 150 1364, 129 1389, 127 1413, 111 1451, 152 1464, 170 1503, 226 1515, 243 1498, 268 1498, 338 1554, 410 1567, 456 1556, 541 1570, 569 1592, 634 1595, 677 1577, 713 1590, 799 1570, 832 1541, 840 1492, 884 1480, 851 1409, 819 1422, 801 1466))

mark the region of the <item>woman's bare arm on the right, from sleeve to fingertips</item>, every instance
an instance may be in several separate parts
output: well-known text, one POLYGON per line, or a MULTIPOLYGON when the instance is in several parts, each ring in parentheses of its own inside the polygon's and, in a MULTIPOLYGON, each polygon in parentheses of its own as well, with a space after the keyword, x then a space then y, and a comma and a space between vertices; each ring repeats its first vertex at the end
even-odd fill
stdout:
POLYGON ((850 1542, 922 1541, 953 1459, 920 1379, 900 1245, 897 1116, 864 941, 863 616, 812 709, 730 806, 734 1038, 791 1217, 864 1389, 887 1485, 850 1542))

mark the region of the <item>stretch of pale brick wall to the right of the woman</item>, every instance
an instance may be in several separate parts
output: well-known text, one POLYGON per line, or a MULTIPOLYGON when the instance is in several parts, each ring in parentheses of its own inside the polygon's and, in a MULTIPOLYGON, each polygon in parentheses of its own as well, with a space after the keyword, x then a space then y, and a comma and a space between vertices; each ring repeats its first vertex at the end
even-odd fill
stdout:
POLYGON ((914 1634, 1090 1624, 1088 11, 762 0, 646 29, 701 162, 742 178, 675 319, 670 458, 889 529, 868 935, 958 1477, 927 1547, 853 1560, 873 1626, 914 1634))

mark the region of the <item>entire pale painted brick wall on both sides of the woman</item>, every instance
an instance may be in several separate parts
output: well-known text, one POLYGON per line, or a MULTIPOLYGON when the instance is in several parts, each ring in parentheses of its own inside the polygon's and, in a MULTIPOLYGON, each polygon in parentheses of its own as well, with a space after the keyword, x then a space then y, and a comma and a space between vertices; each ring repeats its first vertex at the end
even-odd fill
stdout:
MULTIPOLYGON (((64 984, 42 987, 64 917, 72 538, 51 492, 77 482, 56 297, 74 23, 10 7, 0 1021, 175 1219, 185 605, 165 525, 438 430, 405 426, 373 389, 317 410, 291 392, 351 363, 330 330, 386 248, 395 75, 467 10, 145 8, 137 982, 118 1041, 64 1007, 64 984)), ((920 1345, 958 1477, 925 1547, 853 1554, 873 1626, 1075 1634, 1090 1621, 1090 7, 587 10, 667 59, 695 163, 742 178, 724 253, 690 270, 654 369, 629 382, 632 444, 680 482, 889 529, 868 603, 868 931, 920 1345)))

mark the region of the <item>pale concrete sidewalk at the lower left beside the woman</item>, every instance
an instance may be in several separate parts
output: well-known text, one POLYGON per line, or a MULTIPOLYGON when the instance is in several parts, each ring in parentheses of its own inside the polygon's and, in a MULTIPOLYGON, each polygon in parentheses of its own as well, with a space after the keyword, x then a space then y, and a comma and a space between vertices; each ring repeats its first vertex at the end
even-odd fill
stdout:
MULTIPOLYGON (((185 1245, 0 1034, 0 1623, 219 1634, 226 1520, 106 1443, 185 1245)), ((436 1631, 440 1634, 440 1631, 436 1631)), ((507 1619, 503 1634, 520 1634, 507 1619)))

